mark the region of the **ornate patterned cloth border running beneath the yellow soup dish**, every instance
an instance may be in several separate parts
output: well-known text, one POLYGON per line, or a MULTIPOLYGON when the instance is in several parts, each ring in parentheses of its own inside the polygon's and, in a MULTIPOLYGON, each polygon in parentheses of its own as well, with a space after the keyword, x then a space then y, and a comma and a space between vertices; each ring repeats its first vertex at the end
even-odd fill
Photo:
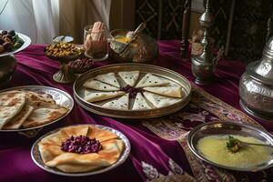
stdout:
POLYGON ((273 178, 273 167, 256 173, 230 171, 209 165, 194 156, 187 146, 187 134, 194 126, 211 121, 232 121, 263 127, 235 107, 228 105, 215 96, 211 96, 195 85, 192 85, 192 87, 191 101, 184 109, 171 116, 163 116, 142 122, 142 125, 147 126, 157 136, 167 140, 177 140, 185 151, 197 181, 248 182, 253 177, 256 181, 270 181, 273 178))

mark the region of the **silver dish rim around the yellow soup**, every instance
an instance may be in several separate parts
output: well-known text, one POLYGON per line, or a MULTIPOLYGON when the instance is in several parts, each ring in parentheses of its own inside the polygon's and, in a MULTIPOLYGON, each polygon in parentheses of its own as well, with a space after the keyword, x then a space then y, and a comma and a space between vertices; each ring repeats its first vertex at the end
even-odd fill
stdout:
POLYGON ((261 126, 251 126, 246 123, 234 123, 234 122, 209 122, 200 126, 195 127, 193 130, 190 131, 187 138, 187 145, 190 150, 203 161, 207 163, 227 168, 231 170, 237 171, 248 171, 248 172, 255 172, 259 170, 266 169, 268 167, 273 166, 273 154, 269 161, 259 164, 257 166, 251 167, 227 167, 223 165, 219 165, 207 159, 202 154, 199 153, 197 150, 197 142, 199 139, 205 136, 213 136, 213 135, 237 135, 237 136, 252 136, 255 137, 264 143, 273 145, 273 138, 272 136, 265 131, 261 126))

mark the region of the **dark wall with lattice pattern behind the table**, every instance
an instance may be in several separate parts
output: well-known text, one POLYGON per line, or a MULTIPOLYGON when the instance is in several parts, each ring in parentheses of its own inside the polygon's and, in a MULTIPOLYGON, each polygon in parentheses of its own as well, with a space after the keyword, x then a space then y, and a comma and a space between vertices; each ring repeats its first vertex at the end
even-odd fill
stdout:
MULTIPOLYGON (((216 45, 228 44, 227 58, 257 60, 267 38, 273 0, 210 0, 215 24, 211 35, 216 45), (232 7, 232 3, 235 5, 232 7), (230 12, 233 9, 233 16, 230 12), (232 24, 229 29, 228 22, 232 24)), ((137 0, 135 25, 147 21, 147 34, 157 39, 180 39, 185 0, 137 0)), ((205 3, 205 2, 204 2, 205 3)), ((191 33, 190 33, 191 34, 191 33)))

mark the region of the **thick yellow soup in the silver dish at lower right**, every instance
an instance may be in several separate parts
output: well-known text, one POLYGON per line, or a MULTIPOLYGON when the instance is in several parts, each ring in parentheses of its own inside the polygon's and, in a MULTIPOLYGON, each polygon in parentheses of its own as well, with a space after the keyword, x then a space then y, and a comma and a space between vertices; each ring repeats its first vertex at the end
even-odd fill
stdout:
MULTIPOLYGON (((250 136, 233 136, 249 143, 263 142, 250 136)), ((268 161, 272 155, 269 147, 247 146, 233 153, 227 148, 227 135, 206 136, 197 143, 197 150, 208 160, 227 167, 253 167, 268 161)))

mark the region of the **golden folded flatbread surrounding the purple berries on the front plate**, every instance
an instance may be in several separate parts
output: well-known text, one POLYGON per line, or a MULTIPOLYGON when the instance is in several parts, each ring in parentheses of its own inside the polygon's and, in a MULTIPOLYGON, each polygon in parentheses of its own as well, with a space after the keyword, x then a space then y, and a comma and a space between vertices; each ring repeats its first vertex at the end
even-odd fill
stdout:
POLYGON ((96 126, 68 126, 43 138, 38 147, 46 166, 65 172, 86 172, 116 163, 124 150, 124 143, 116 134, 96 126), (64 152, 62 142, 70 136, 96 138, 102 149, 88 154, 64 152))

